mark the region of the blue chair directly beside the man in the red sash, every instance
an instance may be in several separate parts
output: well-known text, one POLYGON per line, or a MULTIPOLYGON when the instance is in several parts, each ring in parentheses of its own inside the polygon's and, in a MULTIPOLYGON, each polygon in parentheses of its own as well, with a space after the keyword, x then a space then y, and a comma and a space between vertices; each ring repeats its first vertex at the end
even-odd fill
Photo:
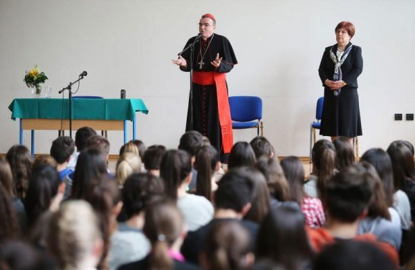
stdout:
POLYGON ((261 131, 261 136, 264 135, 262 99, 260 97, 229 97, 229 106, 232 129, 257 128, 257 135, 259 135, 259 131, 261 131))

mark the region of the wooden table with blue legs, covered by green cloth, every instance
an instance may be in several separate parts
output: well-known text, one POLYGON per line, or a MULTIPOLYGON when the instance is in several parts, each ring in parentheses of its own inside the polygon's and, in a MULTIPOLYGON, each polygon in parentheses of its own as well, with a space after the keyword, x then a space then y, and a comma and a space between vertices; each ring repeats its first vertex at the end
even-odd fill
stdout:
MULTIPOLYGON (((31 151, 35 153, 35 130, 69 129, 69 100, 26 98, 14 99, 8 106, 12 119, 20 119, 19 143, 23 144, 23 131, 31 130, 31 151)), ((133 122, 133 139, 136 139, 136 112, 149 113, 142 99, 72 99, 73 130, 82 126, 104 131, 124 131, 127 142, 127 121, 133 122)))

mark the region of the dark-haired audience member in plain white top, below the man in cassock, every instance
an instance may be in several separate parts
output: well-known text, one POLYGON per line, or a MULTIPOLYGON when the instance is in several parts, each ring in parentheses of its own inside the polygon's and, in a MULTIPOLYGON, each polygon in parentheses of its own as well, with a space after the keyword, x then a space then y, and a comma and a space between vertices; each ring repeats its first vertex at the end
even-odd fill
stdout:
POLYGON ((186 192, 192 180, 192 161, 187 152, 167 151, 161 160, 160 177, 165 183, 165 194, 177 202, 189 231, 199 229, 212 220, 213 206, 209 200, 186 192))

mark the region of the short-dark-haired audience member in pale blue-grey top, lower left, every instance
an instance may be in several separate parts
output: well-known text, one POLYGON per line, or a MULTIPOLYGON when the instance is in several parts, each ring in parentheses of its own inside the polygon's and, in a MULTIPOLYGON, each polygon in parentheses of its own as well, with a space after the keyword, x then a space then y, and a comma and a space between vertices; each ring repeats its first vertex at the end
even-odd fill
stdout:
POLYGON ((121 264, 141 260, 150 251, 149 240, 142 232, 145 211, 151 202, 164 196, 163 181, 149 173, 130 175, 122 189, 125 222, 118 223, 118 229, 111 235, 109 268, 118 269, 121 264))

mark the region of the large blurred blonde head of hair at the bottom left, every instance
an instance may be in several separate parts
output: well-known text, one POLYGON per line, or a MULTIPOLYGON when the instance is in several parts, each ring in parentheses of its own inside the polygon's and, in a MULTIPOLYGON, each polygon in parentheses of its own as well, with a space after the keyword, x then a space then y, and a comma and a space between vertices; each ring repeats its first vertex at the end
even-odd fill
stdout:
POLYGON ((57 258, 60 269, 78 269, 93 253, 98 240, 98 218, 83 200, 64 202, 50 221, 48 249, 57 258))

